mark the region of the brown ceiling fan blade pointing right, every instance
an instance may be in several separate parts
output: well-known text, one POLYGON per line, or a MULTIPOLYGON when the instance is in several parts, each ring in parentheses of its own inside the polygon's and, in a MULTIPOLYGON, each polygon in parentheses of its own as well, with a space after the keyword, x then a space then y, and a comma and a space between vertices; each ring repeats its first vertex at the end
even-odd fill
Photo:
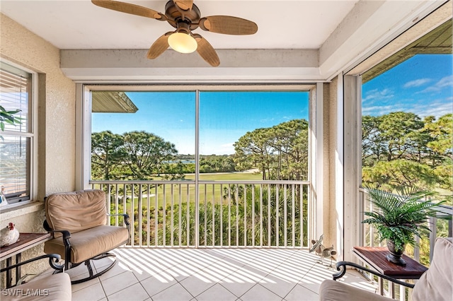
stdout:
POLYGON ((209 16, 199 22, 202 30, 225 35, 253 35, 258 31, 255 22, 232 16, 209 16))

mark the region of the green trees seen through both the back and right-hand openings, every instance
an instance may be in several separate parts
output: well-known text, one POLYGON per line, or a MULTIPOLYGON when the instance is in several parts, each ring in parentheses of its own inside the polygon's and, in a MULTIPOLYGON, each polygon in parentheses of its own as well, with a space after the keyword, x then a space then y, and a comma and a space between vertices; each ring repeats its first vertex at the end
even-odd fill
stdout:
MULTIPOLYGON (((294 119, 245 133, 234 155, 200 156, 200 172, 256 168, 262 179, 308 179, 309 124, 294 119)), ((382 189, 418 186, 453 191, 453 119, 408 112, 362 117, 362 181, 382 189)), ((146 131, 93 133, 93 179, 184 179, 195 172, 194 155, 146 131)))

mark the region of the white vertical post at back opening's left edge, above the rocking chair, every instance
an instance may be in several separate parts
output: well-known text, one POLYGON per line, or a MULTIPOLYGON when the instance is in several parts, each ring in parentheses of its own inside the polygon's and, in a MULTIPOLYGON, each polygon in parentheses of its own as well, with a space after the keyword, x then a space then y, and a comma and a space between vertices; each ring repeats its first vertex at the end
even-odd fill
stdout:
POLYGON ((91 91, 76 84, 76 183, 75 189, 89 189, 91 171, 91 91))

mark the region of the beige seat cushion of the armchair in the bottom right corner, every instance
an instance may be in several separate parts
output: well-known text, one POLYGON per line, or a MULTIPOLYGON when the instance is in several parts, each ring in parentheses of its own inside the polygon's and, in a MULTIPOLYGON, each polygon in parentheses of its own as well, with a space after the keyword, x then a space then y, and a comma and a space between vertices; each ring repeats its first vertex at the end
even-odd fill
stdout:
POLYGON ((394 299, 361 288, 355 288, 340 281, 325 280, 319 288, 319 300, 391 301, 394 299))

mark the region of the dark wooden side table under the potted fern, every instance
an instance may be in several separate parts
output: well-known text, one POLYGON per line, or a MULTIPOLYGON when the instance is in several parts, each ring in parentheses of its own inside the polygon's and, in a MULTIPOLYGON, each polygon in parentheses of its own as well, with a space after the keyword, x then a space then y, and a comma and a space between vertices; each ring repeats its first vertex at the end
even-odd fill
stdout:
MULTIPOLYGON (((353 247, 352 253, 379 273, 396 279, 418 279, 428 270, 426 266, 405 254, 403 254, 403 259, 406 261, 406 266, 398 266, 391 263, 385 258, 386 254, 389 253, 387 247, 353 247)), ((379 278, 379 292, 384 295, 382 282, 382 278, 379 278)), ((391 283, 389 285, 389 293, 392 298, 395 297, 394 288, 394 283, 391 283)))

